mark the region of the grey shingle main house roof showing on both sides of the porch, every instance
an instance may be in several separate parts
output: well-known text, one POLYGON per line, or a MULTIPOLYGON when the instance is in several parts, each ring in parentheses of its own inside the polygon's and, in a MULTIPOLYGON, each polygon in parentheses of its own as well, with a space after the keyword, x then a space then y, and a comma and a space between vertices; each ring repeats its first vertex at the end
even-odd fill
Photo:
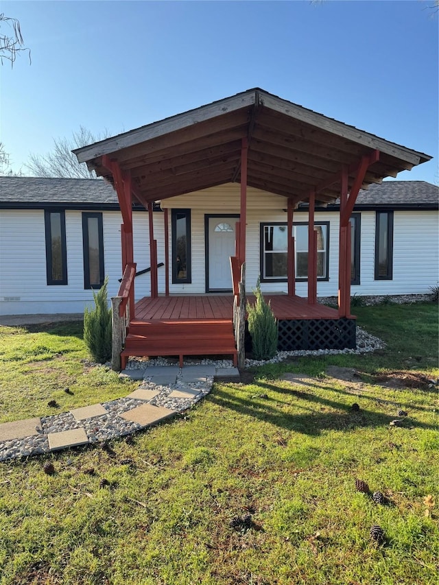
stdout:
MULTIPOLYGON (((105 180, 0 177, 0 208, 62 206, 117 209, 115 190, 105 180)), ((328 208, 336 208, 337 204, 328 208)), ((439 208, 439 187, 425 181, 384 181, 359 191, 355 208, 439 208)))

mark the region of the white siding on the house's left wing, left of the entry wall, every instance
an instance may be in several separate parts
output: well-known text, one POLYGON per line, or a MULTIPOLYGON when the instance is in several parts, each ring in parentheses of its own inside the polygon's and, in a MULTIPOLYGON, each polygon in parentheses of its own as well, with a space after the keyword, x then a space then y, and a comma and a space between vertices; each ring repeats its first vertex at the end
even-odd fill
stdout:
MULTIPOLYGON (((0 314, 81 313, 93 304, 93 292, 84 289, 82 212, 66 211, 67 285, 47 285, 44 211, 0 211, 0 314)), ((134 261, 137 270, 150 266, 147 213, 133 214, 134 261)), ((102 213, 104 268, 108 296, 115 296, 121 278, 121 214, 102 213)), ((158 261, 164 261, 163 213, 154 213, 158 261)), ((159 287, 165 272, 158 269, 159 287)), ((136 279, 136 298, 149 295, 150 274, 136 279)))

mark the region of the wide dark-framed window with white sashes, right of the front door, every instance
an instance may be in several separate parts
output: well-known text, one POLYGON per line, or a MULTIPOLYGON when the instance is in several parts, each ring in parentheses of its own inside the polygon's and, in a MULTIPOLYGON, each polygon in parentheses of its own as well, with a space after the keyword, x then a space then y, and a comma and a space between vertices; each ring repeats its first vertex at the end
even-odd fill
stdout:
MULTIPOLYGON (((315 224, 317 278, 328 280, 329 222, 315 224)), ((294 224, 296 279, 308 278, 308 224, 294 224)), ((261 224, 261 280, 287 280, 287 224, 261 224)))

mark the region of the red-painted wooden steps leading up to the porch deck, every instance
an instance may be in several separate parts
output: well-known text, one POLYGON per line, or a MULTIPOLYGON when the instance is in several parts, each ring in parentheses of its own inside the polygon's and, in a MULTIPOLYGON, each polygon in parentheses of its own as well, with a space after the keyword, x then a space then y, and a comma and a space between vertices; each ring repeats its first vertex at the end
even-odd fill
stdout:
POLYGON ((237 364, 230 319, 132 320, 121 353, 122 368, 129 356, 229 355, 237 364))

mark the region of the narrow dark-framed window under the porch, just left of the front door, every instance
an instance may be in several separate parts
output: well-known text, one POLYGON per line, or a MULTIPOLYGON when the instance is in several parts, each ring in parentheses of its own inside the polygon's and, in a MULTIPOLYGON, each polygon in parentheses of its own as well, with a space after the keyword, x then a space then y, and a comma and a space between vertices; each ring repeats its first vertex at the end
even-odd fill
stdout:
POLYGON ((173 209, 172 283, 191 283, 191 210, 173 209))

